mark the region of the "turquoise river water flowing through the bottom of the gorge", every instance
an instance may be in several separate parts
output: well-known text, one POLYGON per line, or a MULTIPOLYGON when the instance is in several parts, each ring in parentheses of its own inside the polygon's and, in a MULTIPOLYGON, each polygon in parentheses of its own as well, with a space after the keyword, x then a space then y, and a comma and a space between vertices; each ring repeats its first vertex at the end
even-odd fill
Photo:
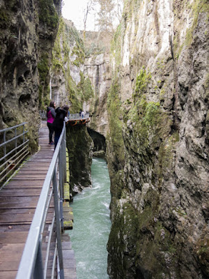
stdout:
POLYGON ((70 204, 74 223, 69 234, 75 251, 77 279, 107 279, 110 182, 104 160, 93 158, 91 176, 93 188, 77 194, 70 204))

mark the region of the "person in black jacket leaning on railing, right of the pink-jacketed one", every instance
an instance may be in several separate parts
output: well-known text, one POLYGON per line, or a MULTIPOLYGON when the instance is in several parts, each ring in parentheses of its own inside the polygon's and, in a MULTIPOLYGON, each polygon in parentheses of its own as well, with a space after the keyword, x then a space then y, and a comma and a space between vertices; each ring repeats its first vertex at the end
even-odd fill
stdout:
POLYGON ((62 133, 63 123, 64 123, 64 120, 65 120, 65 116, 68 115, 68 110, 69 110, 68 105, 63 105, 63 107, 57 107, 57 109, 55 110, 56 117, 55 117, 54 122, 53 122, 54 133, 55 133, 54 149, 56 148, 56 145, 59 141, 59 137, 62 133))

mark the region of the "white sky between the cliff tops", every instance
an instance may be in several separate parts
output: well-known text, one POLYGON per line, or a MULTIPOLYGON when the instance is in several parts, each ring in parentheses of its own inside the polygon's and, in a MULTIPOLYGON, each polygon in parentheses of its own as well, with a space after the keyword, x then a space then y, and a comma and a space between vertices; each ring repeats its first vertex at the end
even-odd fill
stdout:
MULTIPOLYGON (((66 20, 72 20, 78 30, 84 29, 84 9, 88 0, 63 0, 62 15, 66 20)), ((88 14, 86 31, 95 31, 95 15, 88 14)))

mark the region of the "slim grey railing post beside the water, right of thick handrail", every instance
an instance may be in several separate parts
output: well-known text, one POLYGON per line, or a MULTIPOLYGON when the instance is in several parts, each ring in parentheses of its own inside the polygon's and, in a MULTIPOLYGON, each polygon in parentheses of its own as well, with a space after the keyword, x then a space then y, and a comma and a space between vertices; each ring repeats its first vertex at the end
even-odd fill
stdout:
POLYGON ((63 252, 62 252, 62 243, 61 243, 61 226, 60 226, 60 216, 59 216, 59 198, 57 191, 57 183, 56 183, 56 172, 53 174, 53 190, 54 190, 54 210, 55 210, 55 218, 56 218, 56 239, 57 239, 57 251, 59 257, 59 267, 60 267, 60 278, 64 278, 64 270, 63 270, 63 252))

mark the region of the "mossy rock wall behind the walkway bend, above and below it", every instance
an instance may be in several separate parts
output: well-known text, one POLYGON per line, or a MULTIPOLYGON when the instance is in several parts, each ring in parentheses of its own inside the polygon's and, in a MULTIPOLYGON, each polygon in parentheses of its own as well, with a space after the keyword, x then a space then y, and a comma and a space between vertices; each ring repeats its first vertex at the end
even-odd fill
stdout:
MULTIPOLYGON (((61 19, 52 52, 50 69, 52 100, 57 106, 70 105, 77 113, 93 96, 88 77, 84 76, 84 43, 72 22, 61 19)), ((86 126, 66 126, 69 153, 70 198, 84 187, 91 186, 92 140, 86 126)))

